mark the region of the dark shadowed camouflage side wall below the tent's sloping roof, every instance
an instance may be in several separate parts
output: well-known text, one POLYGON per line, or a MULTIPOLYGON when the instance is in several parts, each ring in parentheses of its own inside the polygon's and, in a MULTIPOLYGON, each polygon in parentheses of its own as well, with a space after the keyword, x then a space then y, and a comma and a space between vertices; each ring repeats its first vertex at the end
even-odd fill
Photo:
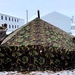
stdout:
POLYGON ((40 45, 0 47, 0 71, 75 69, 75 50, 40 45))

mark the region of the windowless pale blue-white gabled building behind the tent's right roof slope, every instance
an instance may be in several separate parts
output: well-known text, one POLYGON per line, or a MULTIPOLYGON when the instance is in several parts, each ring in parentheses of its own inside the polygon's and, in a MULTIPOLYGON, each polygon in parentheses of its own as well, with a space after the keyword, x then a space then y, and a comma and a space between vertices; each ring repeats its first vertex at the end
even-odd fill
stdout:
POLYGON ((71 32, 71 18, 66 15, 54 11, 41 18, 46 22, 55 25, 56 27, 59 27, 60 29, 68 33, 71 32))

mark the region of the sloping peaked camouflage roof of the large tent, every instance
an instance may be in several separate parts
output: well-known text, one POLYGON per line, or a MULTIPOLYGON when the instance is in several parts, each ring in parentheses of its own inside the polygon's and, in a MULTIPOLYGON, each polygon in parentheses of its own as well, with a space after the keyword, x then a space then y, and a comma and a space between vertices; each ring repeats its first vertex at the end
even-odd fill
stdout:
POLYGON ((73 49, 75 47, 71 35, 39 18, 35 18, 11 33, 4 39, 2 45, 43 45, 67 49, 73 49))

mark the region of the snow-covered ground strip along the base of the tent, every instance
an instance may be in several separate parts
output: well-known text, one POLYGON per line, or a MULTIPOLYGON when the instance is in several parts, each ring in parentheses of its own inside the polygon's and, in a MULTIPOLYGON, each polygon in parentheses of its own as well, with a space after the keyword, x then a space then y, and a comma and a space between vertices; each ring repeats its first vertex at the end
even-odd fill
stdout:
POLYGON ((29 73, 21 73, 21 72, 0 72, 0 75, 75 75, 75 69, 74 70, 64 70, 59 72, 53 72, 53 71, 32 71, 29 73))

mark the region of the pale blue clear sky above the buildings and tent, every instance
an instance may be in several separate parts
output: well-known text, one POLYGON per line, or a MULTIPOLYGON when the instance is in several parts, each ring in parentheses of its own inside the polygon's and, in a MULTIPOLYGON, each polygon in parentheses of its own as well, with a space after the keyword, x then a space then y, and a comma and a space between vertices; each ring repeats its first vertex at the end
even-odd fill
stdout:
POLYGON ((69 17, 75 16, 75 0, 0 0, 0 13, 22 18, 26 21, 31 19, 40 10, 44 16, 57 11, 69 17))

